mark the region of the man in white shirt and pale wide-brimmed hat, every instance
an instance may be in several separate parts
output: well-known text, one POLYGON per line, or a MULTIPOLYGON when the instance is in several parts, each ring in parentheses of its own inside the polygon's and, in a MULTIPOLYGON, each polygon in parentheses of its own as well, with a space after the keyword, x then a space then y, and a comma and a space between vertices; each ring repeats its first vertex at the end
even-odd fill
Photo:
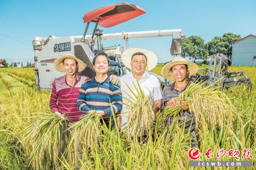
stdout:
MULTIPOLYGON (((135 83, 136 88, 138 89, 138 84, 137 84, 137 80, 138 80, 139 85, 142 91, 144 92, 145 96, 149 96, 150 104, 153 103, 153 111, 156 114, 161 108, 163 94, 162 94, 158 79, 154 75, 150 75, 147 72, 153 69, 154 67, 156 67, 156 64, 157 64, 156 55, 149 50, 131 48, 129 50, 126 50, 122 54, 121 59, 124 66, 126 66, 129 69, 132 69, 131 73, 123 75, 119 79, 121 83, 123 103, 126 103, 125 98, 130 98, 128 94, 126 94, 125 92, 129 93, 130 96, 135 98, 135 96, 129 90, 128 87, 130 87, 132 91, 135 94, 137 94, 137 91, 135 89, 133 82, 135 83)), ((123 114, 125 112, 127 112, 127 109, 126 109, 126 106, 123 104, 121 113, 123 114)), ((122 128, 127 127, 127 125, 124 124, 127 121, 127 117, 128 117, 128 113, 121 115, 121 121, 120 121, 120 116, 117 117, 117 122, 119 127, 121 126, 121 124, 123 124, 122 128)))

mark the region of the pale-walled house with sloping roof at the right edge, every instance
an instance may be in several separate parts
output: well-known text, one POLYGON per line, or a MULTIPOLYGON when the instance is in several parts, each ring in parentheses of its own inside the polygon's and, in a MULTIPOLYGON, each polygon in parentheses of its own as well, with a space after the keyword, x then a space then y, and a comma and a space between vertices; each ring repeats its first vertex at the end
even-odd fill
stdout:
POLYGON ((256 66, 256 36, 248 35, 235 41, 232 48, 232 62, 242 66, 256 66))

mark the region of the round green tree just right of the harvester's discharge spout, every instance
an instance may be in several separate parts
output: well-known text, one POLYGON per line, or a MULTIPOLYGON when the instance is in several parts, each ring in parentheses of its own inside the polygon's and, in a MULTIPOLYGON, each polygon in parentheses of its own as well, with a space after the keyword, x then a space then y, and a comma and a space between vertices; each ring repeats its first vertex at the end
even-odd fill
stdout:
POLYGON ((208 45, 198 36, 190 36, 181 40, 181 56, 192 58, 192 61, 206 59, 209 55, 208 45))

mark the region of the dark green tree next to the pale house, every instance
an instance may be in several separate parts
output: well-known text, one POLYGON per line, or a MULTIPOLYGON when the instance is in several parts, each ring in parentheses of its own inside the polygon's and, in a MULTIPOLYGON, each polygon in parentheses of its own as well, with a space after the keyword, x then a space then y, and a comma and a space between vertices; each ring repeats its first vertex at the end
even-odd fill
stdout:
POLYGON ((231 32, 223 34, 222 37, 214 37, 208 44, 209 55, 221 53, 226 55, 229 59, 232 59, 232 42, 239 40, 240 35, 233 34, 231 32))

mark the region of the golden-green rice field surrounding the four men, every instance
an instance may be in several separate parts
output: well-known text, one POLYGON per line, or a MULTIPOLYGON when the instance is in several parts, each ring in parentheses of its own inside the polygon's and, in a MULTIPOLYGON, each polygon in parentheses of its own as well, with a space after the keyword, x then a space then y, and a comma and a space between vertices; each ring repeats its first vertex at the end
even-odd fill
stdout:
MULTIPOLYGON (((231 68, 239 71, 238 68, 231 68)), ((243 161, 252 161, 253 166, 193 167, 193 169, 256 169, 256 67, 241 66, 240 68, 251 78, 253 89, 247 91, 246 87, 237 86, 223 91, 230 98, 234 108, 226 108, 223 112, 226 115, 221 115, 223 117, 221 124, 219 120, 213 122, 215 120, 207 116, 206 122, 213 123, 210 125, 204 122, 197 127, 196 136, 201 153, 197 161, 217 161, 218 156, 215 153, 221 148, 227 152, 237 148, 240 151, 237 155, 238 160, 242 160, 241 151, 251 148, 252 159, 245 158, 243 161), (230 119, 230 116, 233 119, 230 119), (213 157, 206 159, 204 155, 209 148, 212 148, 213 157)), ((162 66, 157 66, 152 72, 161 75, 161 69, 162 66)), ((32 132, 28 130, 29 126, 34 125, 44 115, 52 115, 49 108, 50 92, 35 91, 34 86, 33 68, 0 68, 1 170, 54 169, 52 145, 57 133, 55 134, 51 129, 45 129, 45 131, 50 130, 48 132, 51 136, 47 136, 44 131, 41 134, 28 133, 32 132), (35 140, 31 140, 33 135, 45 138, 35 136, 35 140), (50 140, 46 142, 40 139, 50 140)), ((215 116, 218 117, 218 115, 215 116)), ((53 124, 54 117, 48 118, 52 120, 51 126, 56 125, 53 124)), ((88 154, 84 155, 84 159, 78 160, 82 169, 192 169, 189 167, 190 159, 188 158, 191 136, 185 134, 175 122, 167 133, 162 113, 158 113, 156 118, 153 130, 149 132, 148 140, 144 143, 129 140, 125 134, 118 133, 118 128, 109 131, 106 126, 103 127, 104 133, 100 133, 97 137, 99 147, 90 152, 86 151, 85 153, 88 154)), ((79 134, 85 133, 88 134, 88 132, 79 131, 79 134)), ((74 153, 73 147, 70 146, 69 152, 74 153)), ((74 159, 74 154, 70 154, 70 157, 63 160, 63 168, 74 169, 74 159)), ((225 155, 220 161, 236 161, 236 159, 225 155)))

